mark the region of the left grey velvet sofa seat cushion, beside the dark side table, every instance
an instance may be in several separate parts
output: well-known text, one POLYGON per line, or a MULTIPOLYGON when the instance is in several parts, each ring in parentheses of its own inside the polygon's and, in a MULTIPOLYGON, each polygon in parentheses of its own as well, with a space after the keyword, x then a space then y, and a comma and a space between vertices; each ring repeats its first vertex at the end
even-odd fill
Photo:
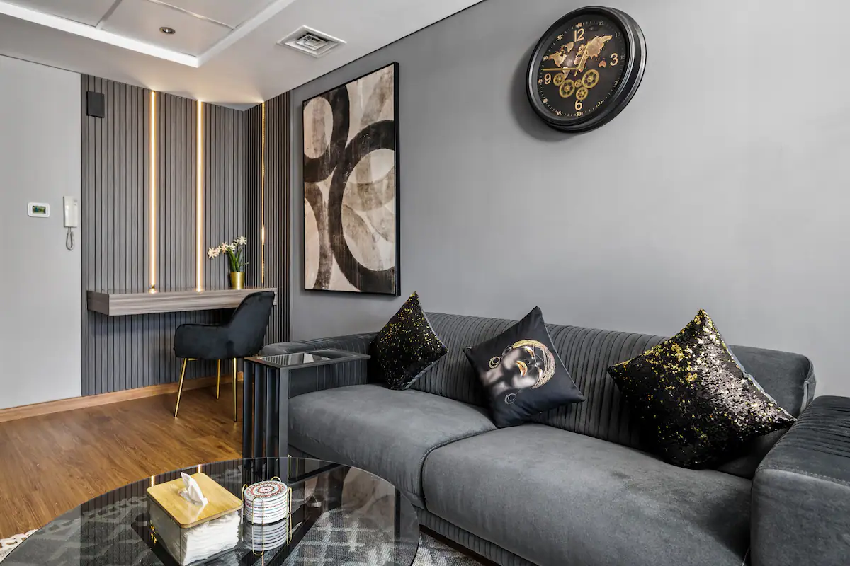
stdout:
POLYGON ((352 385, 289 401, 289 444, 387 479, 422 507, 428 452, 496 426, 479 406, 422 391, 352 385))

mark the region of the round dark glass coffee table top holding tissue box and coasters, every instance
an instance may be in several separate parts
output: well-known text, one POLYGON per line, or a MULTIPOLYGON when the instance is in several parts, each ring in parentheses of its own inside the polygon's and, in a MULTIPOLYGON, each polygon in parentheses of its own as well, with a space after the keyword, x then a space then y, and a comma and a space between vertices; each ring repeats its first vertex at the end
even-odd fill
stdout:
POLYGON ((2 566, 176 566, 150 524, 147 489, 198 471, 240 497, 244 485, 280 478, 292 488, 292 515, 290 535, 278 546, 256 542, 263 540, 258 530, 275 525, 243 518, 235 548, 193 566, 411 566, 416 558, 416 512, 393 485, 359 468, 285 457, 203 464, 125 485, 46 524, 2 566))

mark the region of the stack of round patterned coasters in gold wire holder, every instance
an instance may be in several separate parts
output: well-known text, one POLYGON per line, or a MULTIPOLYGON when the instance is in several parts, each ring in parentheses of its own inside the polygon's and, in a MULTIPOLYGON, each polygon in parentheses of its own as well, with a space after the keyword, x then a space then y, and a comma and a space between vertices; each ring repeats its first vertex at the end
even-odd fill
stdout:
POLYGON ((263 551, 286 542, 291 493, 289 486, 275 480, 261 481, 246 487, 242 541, 249 548, 263 551))

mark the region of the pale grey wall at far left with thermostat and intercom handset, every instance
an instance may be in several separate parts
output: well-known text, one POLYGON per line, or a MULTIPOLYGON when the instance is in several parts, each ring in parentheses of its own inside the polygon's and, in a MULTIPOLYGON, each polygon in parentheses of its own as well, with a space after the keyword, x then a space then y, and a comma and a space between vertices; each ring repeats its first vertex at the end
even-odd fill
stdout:
POLYGON ((62 221, 80 196, 80 76, 0 57, 0 85, 3 409, 80 395, 80 248, 62 221), (31 201, 50 217, 26 216, 31 201))

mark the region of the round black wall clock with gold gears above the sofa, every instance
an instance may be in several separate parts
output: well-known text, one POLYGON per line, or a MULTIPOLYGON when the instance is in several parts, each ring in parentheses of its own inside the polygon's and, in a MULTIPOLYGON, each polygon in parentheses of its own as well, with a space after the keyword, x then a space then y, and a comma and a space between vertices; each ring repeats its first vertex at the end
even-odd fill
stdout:
POLYGON ((550 27, 531 53, 531 107, 556 130, 587 132, 629 104, 645 64, 646 41, 631 16, 579 8, 550 27))

